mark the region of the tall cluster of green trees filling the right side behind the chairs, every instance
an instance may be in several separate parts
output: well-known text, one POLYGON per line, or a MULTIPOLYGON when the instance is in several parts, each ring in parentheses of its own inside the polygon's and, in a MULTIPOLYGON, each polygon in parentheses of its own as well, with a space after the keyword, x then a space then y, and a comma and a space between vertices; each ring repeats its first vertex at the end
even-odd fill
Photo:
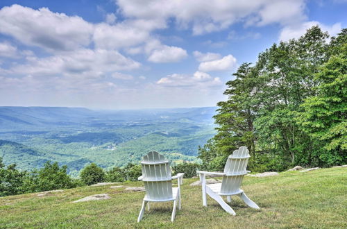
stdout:
POLYGON ((237 69, 214 116, 217 135, 198 149, 205 168, 221 170, 239 146, 253 171, 346 162, 347 30, 328 37, 313 26, 237 69))

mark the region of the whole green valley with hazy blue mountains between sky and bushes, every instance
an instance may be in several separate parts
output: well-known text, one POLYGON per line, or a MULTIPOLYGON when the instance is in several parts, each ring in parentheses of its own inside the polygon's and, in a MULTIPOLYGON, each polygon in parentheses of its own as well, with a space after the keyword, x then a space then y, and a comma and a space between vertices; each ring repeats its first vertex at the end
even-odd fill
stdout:
POLYGON ((20 169, 58 161, 74 176, 90 162, 137 163, 150 150, 173 162, 194 161, 198 146, 214 135, 215 110, 0 107, 0 157, 20 169))

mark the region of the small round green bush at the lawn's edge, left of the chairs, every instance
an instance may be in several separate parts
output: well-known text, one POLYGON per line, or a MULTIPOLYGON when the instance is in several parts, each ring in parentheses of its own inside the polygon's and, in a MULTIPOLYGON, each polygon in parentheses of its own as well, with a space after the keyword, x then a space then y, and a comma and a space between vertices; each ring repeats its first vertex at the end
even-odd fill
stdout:
POLYGON ((94 185, 105 180, 105 172, 95 163, 91 163, 82 169, 80 177, 85 185, 94 185))

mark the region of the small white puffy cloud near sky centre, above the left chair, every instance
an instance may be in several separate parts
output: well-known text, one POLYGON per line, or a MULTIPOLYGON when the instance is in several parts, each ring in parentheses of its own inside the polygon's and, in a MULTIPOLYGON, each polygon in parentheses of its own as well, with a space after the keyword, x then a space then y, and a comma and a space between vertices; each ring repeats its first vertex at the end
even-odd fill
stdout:
POLYGON ((176 46, 162 45, 159 49, 155 49, 148 60, 151 62, 178 62, 186 58, 187 51, 176 46))

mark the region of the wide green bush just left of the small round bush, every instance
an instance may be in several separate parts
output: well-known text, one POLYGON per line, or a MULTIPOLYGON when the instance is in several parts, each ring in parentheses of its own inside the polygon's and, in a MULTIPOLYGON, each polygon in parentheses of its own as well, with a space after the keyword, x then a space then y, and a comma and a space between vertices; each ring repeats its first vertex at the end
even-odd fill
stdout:
POLYGON ((30 176, 24 180, 26 192, 42 192, 71 187, 76 187, 76 182, 67 175, 67 166, 59 167, 58 162, 46 162, 42 169, 34 169, 30 176))

